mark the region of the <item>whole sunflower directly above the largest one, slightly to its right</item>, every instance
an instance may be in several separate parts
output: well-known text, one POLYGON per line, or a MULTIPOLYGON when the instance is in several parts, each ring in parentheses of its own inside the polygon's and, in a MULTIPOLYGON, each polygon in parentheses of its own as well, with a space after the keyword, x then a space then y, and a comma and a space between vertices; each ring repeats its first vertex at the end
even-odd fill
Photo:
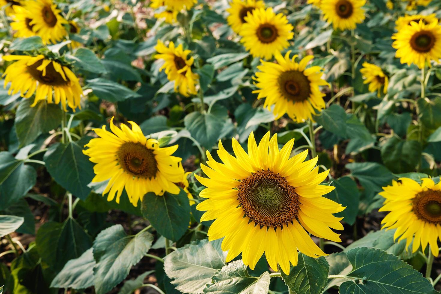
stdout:
POLYGON ((319 86, 328 85, 321 78, 322 68, 318 66, 306 68, 314 56, 309 55, 295 62, 297 55, 289 58, 291 51, 283 57, 280 53, 275 55, 277 63, 262 60, 262 65, 257 68, 255 85, 260 88, 253 93, 258 93, 257 99, 265 98, 264 107, 271 110, 276 119, 285 113, 295 122, 311 119, 317 111, 325 108, 319 86))

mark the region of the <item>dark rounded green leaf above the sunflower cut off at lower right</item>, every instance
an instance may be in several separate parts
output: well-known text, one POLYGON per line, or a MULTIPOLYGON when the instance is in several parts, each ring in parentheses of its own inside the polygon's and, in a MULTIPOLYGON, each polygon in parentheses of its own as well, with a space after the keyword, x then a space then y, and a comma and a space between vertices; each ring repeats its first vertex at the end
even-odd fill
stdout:
POLYGON ((415 140, 391 137, 381 147, 381 158, 394 173, 414 171, 421 160, 421 144, 415 140))

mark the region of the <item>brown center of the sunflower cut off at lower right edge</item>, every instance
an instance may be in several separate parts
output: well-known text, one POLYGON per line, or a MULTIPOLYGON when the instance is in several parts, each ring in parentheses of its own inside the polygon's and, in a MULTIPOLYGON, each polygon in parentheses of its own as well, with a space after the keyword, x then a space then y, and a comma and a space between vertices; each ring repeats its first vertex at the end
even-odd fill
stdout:
POLYGON ((429 223, 441 223, 441 191, 427 190, 416 195, 412 201, 415 215, 429 223))

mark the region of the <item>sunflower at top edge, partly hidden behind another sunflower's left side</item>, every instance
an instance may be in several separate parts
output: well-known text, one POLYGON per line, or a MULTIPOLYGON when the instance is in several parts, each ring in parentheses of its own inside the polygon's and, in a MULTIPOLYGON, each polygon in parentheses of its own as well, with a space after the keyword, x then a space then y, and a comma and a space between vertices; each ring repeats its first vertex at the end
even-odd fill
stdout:
POLYGON ((265 3, 261 0, 233 0, 230 3, 227 22, 235 33, 240 32, 248 12, 253 13, 256 8, 265 8, 265 3))

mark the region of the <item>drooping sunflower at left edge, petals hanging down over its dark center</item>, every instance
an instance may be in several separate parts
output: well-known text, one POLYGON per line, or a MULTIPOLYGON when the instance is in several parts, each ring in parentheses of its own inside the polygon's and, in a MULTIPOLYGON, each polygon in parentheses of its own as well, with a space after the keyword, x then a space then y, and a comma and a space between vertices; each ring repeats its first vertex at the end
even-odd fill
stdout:
POLYGON ((35 93, 35 106, 40 100, 48 103, 66 105, 75 111, 81 108, 82 89, 78 78, 58 60, 50 60, 43 55, 38 56, 3 56, 6 61, 17 60, 6 68, 4 72, 4 87, 11 82, 9 94, 19 93, 29 98, 35 93))

